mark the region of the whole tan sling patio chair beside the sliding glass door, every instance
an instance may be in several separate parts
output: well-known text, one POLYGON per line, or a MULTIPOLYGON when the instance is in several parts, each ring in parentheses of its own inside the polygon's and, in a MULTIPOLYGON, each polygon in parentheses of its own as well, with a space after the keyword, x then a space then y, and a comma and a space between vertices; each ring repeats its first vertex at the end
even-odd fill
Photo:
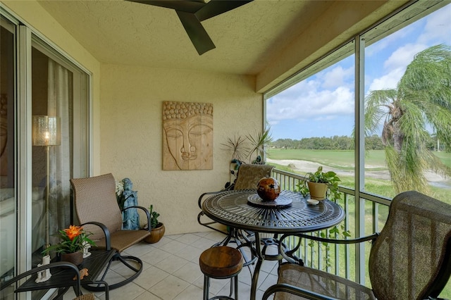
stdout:
MULTIPOLYGON (((78 220, 85 227, 85 230, 92 233, 90 238, 96 243, 99 249, 116 249, 117 251, 109 262, 102 280, 106 276, 111 262, 121 261, 134 274, 121 282, 109 285, 109 288, 116 289, 131 282, 140 275, 142 261, 135 256, 122 256, 121 252, 141 242, 150 235, 149 211, 142 206, 125 208, 140 208, 144 211, 147 215, 149 230, 121 230, 123 223, 122 213, 116 200, 116 180, 114 180, 113 175, 106 174, 96 177, 71 179, 70 184, 73 188, 75 212, 77 213, 78 220)), ((104 290, 104 287, 97 285, 83 285, 83 287, 91 291, 104 290)))

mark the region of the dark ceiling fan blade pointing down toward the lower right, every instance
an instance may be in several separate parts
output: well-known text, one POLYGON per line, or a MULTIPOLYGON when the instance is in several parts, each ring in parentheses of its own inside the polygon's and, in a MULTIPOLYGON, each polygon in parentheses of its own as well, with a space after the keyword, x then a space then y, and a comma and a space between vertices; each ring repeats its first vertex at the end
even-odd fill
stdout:
POLYGON ((204 26, 202 26, 194 13, 176 12, 199 55, 216 48, 208 33, 206 33, 204 26))

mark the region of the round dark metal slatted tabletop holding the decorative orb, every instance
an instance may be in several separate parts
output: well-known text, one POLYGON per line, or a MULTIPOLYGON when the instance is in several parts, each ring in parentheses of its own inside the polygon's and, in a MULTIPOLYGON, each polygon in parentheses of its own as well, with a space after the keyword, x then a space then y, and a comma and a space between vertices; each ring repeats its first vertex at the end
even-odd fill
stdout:
POLYGON ((249 204, 255 189, 221 192, 210 196, 202 210, 212 220, 245 230, 268 233, 310 232, 337 225, 345 218, 342 208, 329 200, 316 206, 307 204, 302 194, 282 191, 278 199, 290 206, 256 206, 249 204))

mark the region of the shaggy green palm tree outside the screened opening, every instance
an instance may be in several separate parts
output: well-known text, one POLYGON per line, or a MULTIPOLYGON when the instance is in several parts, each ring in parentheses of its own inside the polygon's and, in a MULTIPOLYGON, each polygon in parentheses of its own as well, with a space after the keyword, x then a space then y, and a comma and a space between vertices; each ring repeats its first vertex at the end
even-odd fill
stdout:
POLYGON ((395 89, 369 92, 365 99, 365 133, 383 122, 385 160, 395 192, 427 193, 424 172, 451 175, 426 148, 431 128, 440 142, 451 145, 451 47, 431 46, 414 56, 395 89))

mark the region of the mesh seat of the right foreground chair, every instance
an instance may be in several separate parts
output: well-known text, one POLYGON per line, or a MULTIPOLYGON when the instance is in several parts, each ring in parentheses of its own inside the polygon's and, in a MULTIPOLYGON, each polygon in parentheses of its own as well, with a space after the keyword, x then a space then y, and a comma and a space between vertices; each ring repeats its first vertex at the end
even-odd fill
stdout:
MULTIPOLYGON (((376 297, 368 287, 357 284, 351 280, 332 275, 293 263, 285 263, 279 267, 278 283, 294 285, 301 289, 323 294, 338 299, 374 299, 376 297)), ((277 292, 274 300, 304 299, 300 296, 277 292)))

